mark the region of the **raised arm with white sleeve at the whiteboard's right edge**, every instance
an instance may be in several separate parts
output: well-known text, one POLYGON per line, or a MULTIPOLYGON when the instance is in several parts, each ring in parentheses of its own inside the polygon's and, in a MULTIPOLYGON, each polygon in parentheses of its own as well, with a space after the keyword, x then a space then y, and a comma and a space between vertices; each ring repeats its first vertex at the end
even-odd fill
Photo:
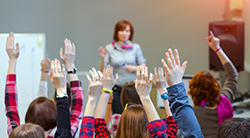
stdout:
POLYGON ((38 88, 37 96, 44 96, 48 97, 48 83, 47 83, 47 75, 49 71, 50 66, 50 59, 49 54, 46 55, 46 58, 44 58, 41 62, 41 80, 38 88))

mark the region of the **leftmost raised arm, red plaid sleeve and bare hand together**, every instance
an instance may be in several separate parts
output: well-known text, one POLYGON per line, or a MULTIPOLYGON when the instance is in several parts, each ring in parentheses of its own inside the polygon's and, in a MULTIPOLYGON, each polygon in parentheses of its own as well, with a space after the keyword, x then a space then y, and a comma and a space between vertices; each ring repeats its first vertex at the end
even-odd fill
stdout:
POLYGON ((6 52, 9 56, 9 66, 5 85, 5 112, 7 116, 8 135, 20 125, 17 109, 16 63, 19 56, 19 44, 14 46, 14 34, 10 33, 6 41, 6 52))

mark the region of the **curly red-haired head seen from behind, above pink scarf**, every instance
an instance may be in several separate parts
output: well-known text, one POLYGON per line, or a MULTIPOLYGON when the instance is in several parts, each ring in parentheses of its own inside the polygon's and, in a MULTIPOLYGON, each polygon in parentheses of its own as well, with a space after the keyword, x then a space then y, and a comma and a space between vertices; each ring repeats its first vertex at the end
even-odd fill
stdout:
POLYGON ((220 84, 209 72, 201 71, 196 73, 189 81, 189 92, 195 105, 205 100, 212 107, 219 103, 217 98, 220 95, 220 84))

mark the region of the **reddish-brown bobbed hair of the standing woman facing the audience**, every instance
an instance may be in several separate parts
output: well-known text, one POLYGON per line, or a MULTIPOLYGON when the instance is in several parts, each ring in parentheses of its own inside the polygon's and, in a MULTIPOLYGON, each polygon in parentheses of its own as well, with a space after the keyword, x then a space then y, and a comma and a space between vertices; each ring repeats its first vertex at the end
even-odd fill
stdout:
POLYGON ((115 41, 119 41, 118 32, 123 31, 127 26, 129 26, 129 28, 130 28, 129 40, 132 41, 133 35, 134 35, 134 28, 133 28, 132 24, 130 23, 130 21, 127 21, 127 20, 120 20, 118 23, 116 23, 115 30, 114 30, 114 36, 113 36, 113 39, 115 41))

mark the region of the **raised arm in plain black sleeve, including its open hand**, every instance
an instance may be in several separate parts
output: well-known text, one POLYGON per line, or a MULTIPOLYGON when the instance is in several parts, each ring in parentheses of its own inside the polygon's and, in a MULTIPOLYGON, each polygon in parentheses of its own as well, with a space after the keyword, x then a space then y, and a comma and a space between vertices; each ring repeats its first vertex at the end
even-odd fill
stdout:
POLYGON ((51 61, 51 70, 49 77, 53 85, 56 87, 56 105, 57 105, 57 130, 56 138, 72 137, 70 131, 70 117, 69 117, 69 102, 66 92, 66 74, 65 67, 60 61, 55 58, 51 61))

